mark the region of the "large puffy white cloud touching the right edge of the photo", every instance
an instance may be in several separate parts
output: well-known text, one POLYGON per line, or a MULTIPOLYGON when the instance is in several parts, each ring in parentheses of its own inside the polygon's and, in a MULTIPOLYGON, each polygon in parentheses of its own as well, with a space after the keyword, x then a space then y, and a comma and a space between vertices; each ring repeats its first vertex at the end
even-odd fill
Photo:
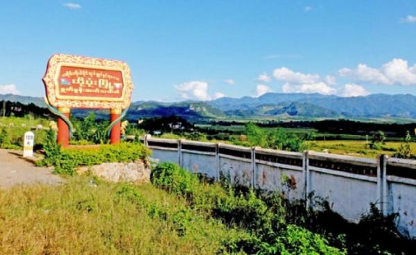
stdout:
POLYGON ((416 64, 409 67, 406 60, 395 58, 383 64, 380 69, 358 64, 355 69, 344 67, 338 71, 343 77, 353 78, 360 82, 382 85, 416 85, 416 64))

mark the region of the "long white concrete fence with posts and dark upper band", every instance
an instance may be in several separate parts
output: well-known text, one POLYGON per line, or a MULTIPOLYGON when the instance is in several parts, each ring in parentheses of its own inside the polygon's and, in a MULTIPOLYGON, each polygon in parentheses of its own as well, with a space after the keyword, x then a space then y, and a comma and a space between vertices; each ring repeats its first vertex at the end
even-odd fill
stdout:
POLYGON ((416 161, 287 152, 174 139, 142 139, 153 159, 169 161, 192 173, 279 191, 289 200, 316 206, 310 194, 329 202, 331 209, 351 222, 370 213, 370 204, 388 215, 398 213, 401 233, 416 237, 416 161))

